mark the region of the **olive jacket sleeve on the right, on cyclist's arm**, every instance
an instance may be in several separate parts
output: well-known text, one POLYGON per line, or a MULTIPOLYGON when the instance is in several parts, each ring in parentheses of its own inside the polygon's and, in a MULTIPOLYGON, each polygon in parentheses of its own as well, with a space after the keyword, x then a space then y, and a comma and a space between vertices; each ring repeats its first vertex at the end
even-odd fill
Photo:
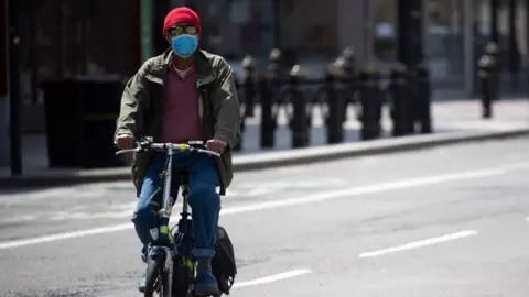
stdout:
POLYGON ((220 58, 217 72, 217 88, 214 92, 216 118, 215 139, 225 141, 229 147, 240 141, 240 106, 231 66, 220 58))

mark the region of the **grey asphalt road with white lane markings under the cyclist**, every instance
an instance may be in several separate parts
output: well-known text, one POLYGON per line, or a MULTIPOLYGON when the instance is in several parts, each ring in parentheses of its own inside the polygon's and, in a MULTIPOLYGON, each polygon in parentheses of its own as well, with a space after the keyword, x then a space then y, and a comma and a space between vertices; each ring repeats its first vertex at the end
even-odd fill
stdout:
MULTIPOLYGON (((233 296, 529 292, 529 140, 237 174, 233 296)), ((129 183, 0 196, 0 296, 140 296, 129 183)))

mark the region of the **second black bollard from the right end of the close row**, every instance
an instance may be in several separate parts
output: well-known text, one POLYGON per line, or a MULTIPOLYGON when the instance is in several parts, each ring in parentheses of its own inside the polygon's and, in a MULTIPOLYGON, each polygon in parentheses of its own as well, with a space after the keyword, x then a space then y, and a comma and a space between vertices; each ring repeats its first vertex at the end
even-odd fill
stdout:
POLYGON ((395 66, 391 69, 389 82, 390 114, 393 122, 391 134, 393 136, 402 136, 412 132, 409 124, 410 114, 408 114, 410 105, 408 89, 408 68, 404 65, 395 66))

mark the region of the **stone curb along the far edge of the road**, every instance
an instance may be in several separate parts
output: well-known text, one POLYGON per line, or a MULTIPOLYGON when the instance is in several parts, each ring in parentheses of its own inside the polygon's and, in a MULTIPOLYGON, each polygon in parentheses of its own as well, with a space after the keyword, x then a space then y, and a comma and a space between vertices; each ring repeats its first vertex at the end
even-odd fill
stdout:
MULTIPOLYGON (((367 155, 391 154, 435 146, 529 135, 529 128, 487 132, 446 132, 393 139, 313 146, 295 151, 280 151, 234 156, 235 172, 262 170, 283 166, 328 162, 367 155)), ((75 184, 130 180, 129 167, 110 169, 48 172, 22 177, 0 177, 0 188, 54 187, 75 184)))

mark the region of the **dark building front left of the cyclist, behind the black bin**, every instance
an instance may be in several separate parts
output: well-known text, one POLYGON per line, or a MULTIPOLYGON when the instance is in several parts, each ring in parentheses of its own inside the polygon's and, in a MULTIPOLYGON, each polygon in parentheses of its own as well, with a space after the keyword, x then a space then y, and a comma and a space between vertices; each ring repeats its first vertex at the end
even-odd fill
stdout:
MULTIPOLYGON (((23 132, 44 131, 41 82, 109 74, 130 77, 141 65, 140 0, 11 0, 10 4, 18 11, 23 132)), ((0 138, 9 140, 4 8, 1 14, 0 138)), ((2 141, 0 166, 8 164, 9 141, 2 141)))

